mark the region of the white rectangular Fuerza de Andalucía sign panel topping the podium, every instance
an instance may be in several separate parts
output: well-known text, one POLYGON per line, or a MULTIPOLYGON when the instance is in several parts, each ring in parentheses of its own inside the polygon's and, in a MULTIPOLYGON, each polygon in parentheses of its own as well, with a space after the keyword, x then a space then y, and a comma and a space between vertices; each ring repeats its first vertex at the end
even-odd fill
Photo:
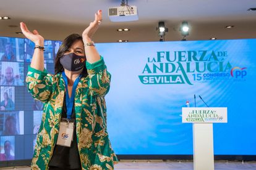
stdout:
POLYGON ((182 123, 228 123, 226 107, 182 107, 182 123))

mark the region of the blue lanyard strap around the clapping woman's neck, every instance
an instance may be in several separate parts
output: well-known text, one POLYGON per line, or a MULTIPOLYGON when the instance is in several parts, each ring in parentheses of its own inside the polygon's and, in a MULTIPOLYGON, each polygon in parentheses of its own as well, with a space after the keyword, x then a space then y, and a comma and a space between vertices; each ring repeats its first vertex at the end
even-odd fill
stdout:
POLYGON ((71 97, 69 98, 69 90, 67 89, 67 76, 65 75, 65 72, 62 71, 62 76, 66 84, 66 107, 67 107, 67 119, 71 118, 72 115, 72 109, 73 109, 73 104, 74 104, 74 98, 75 98, 75 89, 77 89, 77 85, 79 83, 79 80, 82 75, 79 75, 77 79, 75 79, 75 83, 73 84, 72 87, 72 94, 71 97))

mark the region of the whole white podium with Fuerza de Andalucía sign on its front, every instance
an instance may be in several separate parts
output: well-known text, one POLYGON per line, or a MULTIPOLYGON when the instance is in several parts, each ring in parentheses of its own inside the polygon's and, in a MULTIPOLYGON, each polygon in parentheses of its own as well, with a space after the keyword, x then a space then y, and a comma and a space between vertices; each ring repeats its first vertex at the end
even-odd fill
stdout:
POLYGON ((182 107, 182 123, 193 123, 194 170, 214 170, 213 123, 228 123, 226 107, 182 107))

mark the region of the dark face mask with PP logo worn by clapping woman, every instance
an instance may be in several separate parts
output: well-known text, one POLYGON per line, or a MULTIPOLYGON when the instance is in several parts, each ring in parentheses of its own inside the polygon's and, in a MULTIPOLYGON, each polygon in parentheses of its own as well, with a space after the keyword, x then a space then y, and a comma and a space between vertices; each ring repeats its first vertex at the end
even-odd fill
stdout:
POLYGON ((61 65, 69 71, 78 71, 85 65, 85 56, 76 55, 73 52, 61 57, 61 65))

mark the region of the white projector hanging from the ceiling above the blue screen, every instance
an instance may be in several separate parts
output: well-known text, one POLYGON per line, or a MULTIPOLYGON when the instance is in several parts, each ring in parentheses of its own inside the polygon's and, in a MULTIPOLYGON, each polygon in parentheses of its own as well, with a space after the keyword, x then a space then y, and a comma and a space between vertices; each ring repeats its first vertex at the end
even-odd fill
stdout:
POLYGON ((139 20, 136 6, 119 6, 108 9, 111 22, 129 22, 139 20))

